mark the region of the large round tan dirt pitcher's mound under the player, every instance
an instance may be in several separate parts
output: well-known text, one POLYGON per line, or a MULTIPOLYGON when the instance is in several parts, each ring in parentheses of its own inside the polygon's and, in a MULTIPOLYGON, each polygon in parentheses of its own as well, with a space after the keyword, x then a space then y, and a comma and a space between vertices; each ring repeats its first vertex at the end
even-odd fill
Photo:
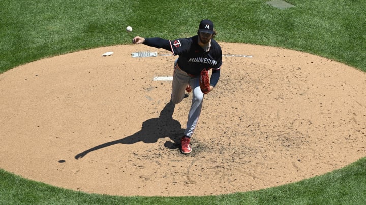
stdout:
POLYGON ((192 96, 174 106, 171 81, 153 80, 172 76, 168 51, 104 47, 1 74, 0 168, 89 193, 199 196, 300 181, 366 155, 365 73, 307 53, 220 45, 221 78, 189 155, 178 147, 192 96), (158 56, 131 57, 147 50, 158 56))

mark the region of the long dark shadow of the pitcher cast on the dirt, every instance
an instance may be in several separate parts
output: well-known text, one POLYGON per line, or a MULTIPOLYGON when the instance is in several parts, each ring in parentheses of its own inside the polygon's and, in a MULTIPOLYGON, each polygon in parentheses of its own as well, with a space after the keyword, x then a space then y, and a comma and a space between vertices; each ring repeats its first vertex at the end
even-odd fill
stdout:
POLYGON ((160 112, 159 118, 148 119, 147 121, 143 122, 141 130, 137 133, 127 136, 123 139, 107 142, 85 150, 77 154, 75 159, 80 159, 90 152, 119 143, 134 144, 140 141, 144 143, 155 143, 159 138, 165 137, 170 137, 170 139, 174 141, 174 143, 166 142, 164 144, 165 147, 170 149, 178 148, 178 144, 180 144, 180 138, 184 132, 184 129, 181 128, 181 125, 177 120, 173 119, 174 108, 175 105, 170 101, 160 112))

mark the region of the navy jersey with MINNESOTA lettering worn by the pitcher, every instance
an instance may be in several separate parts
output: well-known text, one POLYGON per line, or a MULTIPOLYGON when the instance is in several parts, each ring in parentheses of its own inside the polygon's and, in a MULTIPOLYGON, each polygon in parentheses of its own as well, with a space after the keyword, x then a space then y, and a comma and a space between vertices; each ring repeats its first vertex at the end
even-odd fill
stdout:
POLYGON ((211 39, 211 47, 208 52, 198 44, 198 36, 170 40, 170 48, 173 55, 179 55, 178 65, 183 71, 200 75, 203 69, 220 69, 222 65, 222 51, 220 45, 211 39))

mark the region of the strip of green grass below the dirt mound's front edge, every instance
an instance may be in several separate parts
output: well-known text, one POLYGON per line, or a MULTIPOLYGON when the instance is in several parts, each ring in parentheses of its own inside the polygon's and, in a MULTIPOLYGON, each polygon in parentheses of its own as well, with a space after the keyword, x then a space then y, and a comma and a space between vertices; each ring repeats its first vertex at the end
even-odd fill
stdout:
POLYGON ((120 197, 87 194, 22 179, 0 170, 0 204, 364 204, 366 159, 297 183, 204 197, 120 197))

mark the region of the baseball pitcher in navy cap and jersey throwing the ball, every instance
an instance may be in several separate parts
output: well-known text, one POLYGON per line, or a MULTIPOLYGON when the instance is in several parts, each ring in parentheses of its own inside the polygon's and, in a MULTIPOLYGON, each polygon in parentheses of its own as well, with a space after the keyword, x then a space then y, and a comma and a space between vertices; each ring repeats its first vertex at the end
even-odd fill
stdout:
POLYGON ((166 40, 158 37, 143 38, 136 36, 134 44, 162 48, 171 51, 179 57, 174 62, 171 100, 174 104, 184 99, 185 91, 192 92, 192 105, 188 114, 187 128, 181 138, 181 152, 189 154, 192 151, 190 139, 196 128, 201 114, 204 94, 212 91, 220 78, 222 51, 214 40, 216 35, 214 23, 202 20, 197 35, 189 38, 166 40), (211 77, 208 70, 212 69, 211 77))

